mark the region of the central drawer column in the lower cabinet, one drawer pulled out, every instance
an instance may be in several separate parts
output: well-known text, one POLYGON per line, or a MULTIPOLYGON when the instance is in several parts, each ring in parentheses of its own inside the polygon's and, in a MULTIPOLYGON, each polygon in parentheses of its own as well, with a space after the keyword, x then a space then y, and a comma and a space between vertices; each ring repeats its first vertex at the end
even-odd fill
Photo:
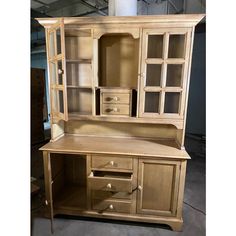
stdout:
POLYGON ((91 156, 88 189, 92 210, 99 213, 135 213, 136 161, 123 156, 91 156))

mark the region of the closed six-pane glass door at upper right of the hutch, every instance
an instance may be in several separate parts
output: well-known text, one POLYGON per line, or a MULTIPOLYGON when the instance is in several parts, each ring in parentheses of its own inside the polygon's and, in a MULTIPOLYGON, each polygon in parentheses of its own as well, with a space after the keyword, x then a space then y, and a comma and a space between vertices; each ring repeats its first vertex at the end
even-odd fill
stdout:
POLYGON ((144 29, 140 117, 183 118, 191 30, 144 29))

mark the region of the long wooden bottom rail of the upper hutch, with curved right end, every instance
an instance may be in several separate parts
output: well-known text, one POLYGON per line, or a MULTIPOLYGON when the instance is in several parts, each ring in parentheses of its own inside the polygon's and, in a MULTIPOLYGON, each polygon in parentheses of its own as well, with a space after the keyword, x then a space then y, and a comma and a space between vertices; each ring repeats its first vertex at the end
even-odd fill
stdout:
POLYGON ((118 123, 150 123, 150 124, 171 124, 177 129, 183 129, 183 119, 175 118, 141 118, 141 117, 120 117, 120 116, 92 116, 91 114, 83 114, 73 112, 69 113, 69 120, 91 120, 91 121, 105 121, 118 123))

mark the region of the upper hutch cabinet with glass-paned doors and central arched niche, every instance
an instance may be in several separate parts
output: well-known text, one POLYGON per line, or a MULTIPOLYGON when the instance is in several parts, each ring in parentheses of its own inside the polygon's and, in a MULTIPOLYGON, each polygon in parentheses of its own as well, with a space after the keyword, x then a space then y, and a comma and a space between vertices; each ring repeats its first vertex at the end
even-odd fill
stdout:
POLYGON ((53 120, 183 129, 193 30, 200 18, 168 17, 40 20, 47 31, 53 120))

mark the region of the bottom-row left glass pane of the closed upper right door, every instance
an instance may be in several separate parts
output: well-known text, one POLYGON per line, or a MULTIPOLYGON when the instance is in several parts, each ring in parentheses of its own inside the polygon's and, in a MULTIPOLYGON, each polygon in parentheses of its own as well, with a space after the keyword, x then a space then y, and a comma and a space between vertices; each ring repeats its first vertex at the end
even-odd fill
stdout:
POLYGON ((159 110, 159 93, 145 93, 144 112, 158 113, 159 110))

